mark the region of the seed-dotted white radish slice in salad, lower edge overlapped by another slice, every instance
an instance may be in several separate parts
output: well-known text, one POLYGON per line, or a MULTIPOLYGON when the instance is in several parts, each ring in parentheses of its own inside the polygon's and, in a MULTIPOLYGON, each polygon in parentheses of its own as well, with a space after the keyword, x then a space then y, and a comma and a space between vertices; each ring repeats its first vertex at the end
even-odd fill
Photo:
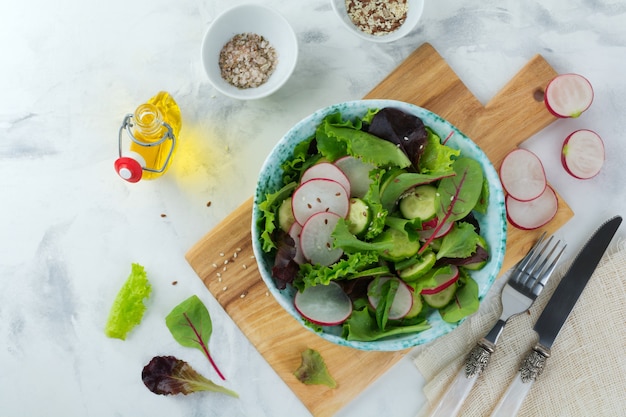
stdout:
POLYGON ((341 184, 327 179, 313 179, 301 184, 291 199, 293 215, 302 225, 316 213, 332 212, 346 217, 350 197, 341 184))

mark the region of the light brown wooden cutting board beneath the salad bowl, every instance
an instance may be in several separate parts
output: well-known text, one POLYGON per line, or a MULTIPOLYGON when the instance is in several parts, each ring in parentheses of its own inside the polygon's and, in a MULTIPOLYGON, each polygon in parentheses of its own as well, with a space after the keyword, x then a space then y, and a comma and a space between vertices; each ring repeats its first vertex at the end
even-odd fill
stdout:
MULTIPOLYGON (((497 63, 494 63, 497 65, 497 63)), ((552 123, 539 96, 556 76, 539 55, 483 106, 429 45, 414 51, 365 98, 395 99, 424 107, 472 138, 498 167, 507 152, 552 123)), ((329 103, 330 104, 330 103, 329 103)), ((186 254, 191 267, 241 331, 315 416, 330 416, 387 371, 406 352, 364 352, 337 346, 303 329, 269 293, 254 260, 247 200, 186 254), (293 372, 306 348, 319 351, 338 383, 336 389, 300 383, 293 372)), ((545 228, 524 232, 509 225, 506 271, 542 230, 553 232, 573 216, 560 200, 545 228)))

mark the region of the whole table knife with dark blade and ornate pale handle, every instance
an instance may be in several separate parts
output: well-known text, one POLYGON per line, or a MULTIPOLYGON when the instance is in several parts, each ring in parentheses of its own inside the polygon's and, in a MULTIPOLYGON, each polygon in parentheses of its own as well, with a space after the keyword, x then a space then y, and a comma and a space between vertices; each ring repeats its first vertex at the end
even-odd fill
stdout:
POLYGON ((606 221, 576 256, 533 327, 539 335, 539 342, 527 354, 519 372, 496 405, 491 417, 517 415, 533 382, 541 374, 546 360, 550 357, 550 348, 554 339, 585 289, 621 223, 621 216, 615 216, 606 221))

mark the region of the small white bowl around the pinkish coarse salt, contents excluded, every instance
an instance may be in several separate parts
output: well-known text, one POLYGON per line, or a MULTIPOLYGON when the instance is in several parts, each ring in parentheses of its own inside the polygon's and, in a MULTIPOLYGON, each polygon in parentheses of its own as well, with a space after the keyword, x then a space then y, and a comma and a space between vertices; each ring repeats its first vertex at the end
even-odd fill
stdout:
POLYGON ((285 84, 296 67, 298 40, 281 14, 261 4, 243 4, 226 10, 213 20, 202 41, 202 64, 209 81, 220 93, 239 100, 267 97, 285 84), (278 62, 269 79, 255 88, 240 89, 222 78, 219 57, 233 36, 254 33, 276 50, 278 62))

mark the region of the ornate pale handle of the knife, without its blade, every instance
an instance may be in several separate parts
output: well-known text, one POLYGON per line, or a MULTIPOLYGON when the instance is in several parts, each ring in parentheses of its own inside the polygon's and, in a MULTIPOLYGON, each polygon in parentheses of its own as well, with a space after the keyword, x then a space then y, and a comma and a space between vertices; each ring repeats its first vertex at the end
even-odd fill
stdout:
POLYGON ((543 372, 549 357, 550 349, 540 343, 528 352, 520 365, 519 372, 500 398, 491 417, 515 417, 517 415, 533 383, 543 372))

